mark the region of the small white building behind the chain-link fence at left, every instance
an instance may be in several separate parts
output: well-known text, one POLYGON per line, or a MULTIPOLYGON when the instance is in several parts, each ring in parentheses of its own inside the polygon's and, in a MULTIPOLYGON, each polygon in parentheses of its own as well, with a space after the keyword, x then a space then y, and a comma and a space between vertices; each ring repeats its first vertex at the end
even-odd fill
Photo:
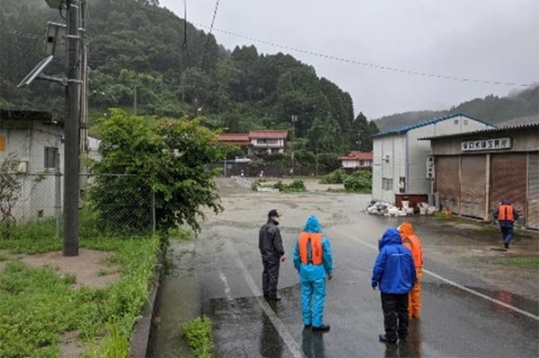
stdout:
POLYGON ((21 198, 13 209, 16 220, 50 217, 61 205, 64 127, 49 112, 0 109, 0 162, 19 162, 21 198))

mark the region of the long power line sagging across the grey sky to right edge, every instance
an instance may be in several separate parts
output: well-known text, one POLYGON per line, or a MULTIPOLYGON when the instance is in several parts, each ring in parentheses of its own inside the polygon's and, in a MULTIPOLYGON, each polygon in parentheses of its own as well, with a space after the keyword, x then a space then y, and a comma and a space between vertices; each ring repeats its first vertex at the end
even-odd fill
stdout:
MULTIPOLYGON (((208 29, 208 25, 204 25, 204 24, 199 23, 199 22, 193 22, 193 24, 195 24, 195 25, 197 25, 199 27, 203 27, 203 28, 208 29)), ((328 58, 328 59, 331 59, 331 60, 334 60, 334 61, 345 62, 345 63, 349 63, 349 64, 352 64, 352 65, 362 65, 362 66, 365 66, 365 67, 376 68, 376 69, 384 70, 384 71, 393 71, 393 72, 399 72, 399 73, 402 73, 402 74, 420 75, 420 76, 424 76, 424 77, 432 77, 432 78, 439 78, 439 79, 444 79, 444 80, 461 81, 461 82, 469 82, 469 83, 496 84, 496 85, 503 85, 503 86, 518 86, 518 87, 529 87, 529 86, 534 85, 534 83, 506 83, 506 82, 502 82, 502 81, 489 81, 489 80, 479 80, 479 79, 475 79, 475 78, 456 77, 456 76, 450 76, 450 75, 446 75, 446 74, 430 74, 430 73, 425 73, 425 72, 420 72, 420 71, 408 70, 408 69, 400 68, 400 67, 392 67, 392 66, 387 66, 387 65, 377 65, 377 64, 357 61, 357 60, 353 60, 353 59, 349 59, 349 58, 331 56, 331 55, 327 55, 327 54, 323 54, 323 53, 319 53, 319 52, 305 50, 305 49, 302 49, 302 48, 293 48, 293 47, 290 47, 290 46, 287 46, 287 45, 281 45, 281 44, 278 44, 278 43, 275 43, 275 42, 265 41, 265 40, 262 40, 262 39, 255 39, 255 38, 252 38, 251 36, 241 35, 239 33, 235 33, 235 32, 232 32, 232 31, 215 29, 213 27, 211 28, 211 30, 221 32, 221 33, 225 33, 227 35, 234 36, 234 37, 237 37, 237 38, 248 39, 248 40, 253 41, 253 42, 259 42, 261 44, 269 45, 269 46, 272 46, 272 47, 275 47, 275 48, 284 48, 284 49, 287 49, 287 50, 290 50, 290 51, 295 51, 295 52, 303 53, 303 54, 306 54, 306 55, 312 55, 312 56, 316 56, 316 57, 328 58)))

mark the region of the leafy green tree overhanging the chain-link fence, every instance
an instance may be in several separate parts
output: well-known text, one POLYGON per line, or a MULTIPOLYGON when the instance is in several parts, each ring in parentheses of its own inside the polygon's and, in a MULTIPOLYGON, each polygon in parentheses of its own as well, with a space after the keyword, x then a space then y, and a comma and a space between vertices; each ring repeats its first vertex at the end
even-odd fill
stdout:
MULTIPOLYGON (((219 170, 208 170, 209 162, 225 159, 226 149, 216 143, 216 132, 199 125, 199 119, 145 118, 110 109, 102 118, 100 152, 94 164, 97 174, 92 198, 101 217, 117 228, 133 223, 134 215, 144 222, 146 208, 110 205, 110 197, 136 196, 149 203, 155 194, 157 223, 166 229, 189 224, 199 230, 202 206, 215 213, 222 210, 213 179, 219 170), (107 174, 121 173, 121 183, 107 174)), ((134 228, 136 229, 136 228, 134 228)))

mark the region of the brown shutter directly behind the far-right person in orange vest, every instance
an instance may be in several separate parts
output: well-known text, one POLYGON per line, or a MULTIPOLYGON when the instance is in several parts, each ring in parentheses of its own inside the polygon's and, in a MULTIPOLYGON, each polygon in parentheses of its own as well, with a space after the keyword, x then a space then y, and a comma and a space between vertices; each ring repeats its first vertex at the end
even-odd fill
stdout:
POLYGON ((508 199, 517 211, 526 208, 526 153, 490 154, 490 208, 508 199))

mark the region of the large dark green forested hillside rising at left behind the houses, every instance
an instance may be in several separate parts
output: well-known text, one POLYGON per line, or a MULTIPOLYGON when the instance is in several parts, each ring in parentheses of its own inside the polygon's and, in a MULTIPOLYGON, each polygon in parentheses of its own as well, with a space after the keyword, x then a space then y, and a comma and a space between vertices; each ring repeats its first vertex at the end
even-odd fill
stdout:
MULTIPOLYGON (((291 128, 305 148, 326 153, 368 149, 376 131, 352 99, 314 68, 290 55, 260 54, 254 46, 226 49, 150 0, 89 2, 90 123, 105 109, 138 114, 206 116, 208 127, 229 131, 291 128), (361 132, 362 136, 357 133, 361 132), (367 147, 365 147, 367 145, 367 147)), ((49 109, 61 115, 62 89, 36 83, 15 89, 42 55, 47 21, 62 22, 43 0, 3 0, 0 10, 0 106, 49 109), (29 21, 29 19, 31 21, 29 21)), ((61 58, 49 72, 62 72, 61 58)))

